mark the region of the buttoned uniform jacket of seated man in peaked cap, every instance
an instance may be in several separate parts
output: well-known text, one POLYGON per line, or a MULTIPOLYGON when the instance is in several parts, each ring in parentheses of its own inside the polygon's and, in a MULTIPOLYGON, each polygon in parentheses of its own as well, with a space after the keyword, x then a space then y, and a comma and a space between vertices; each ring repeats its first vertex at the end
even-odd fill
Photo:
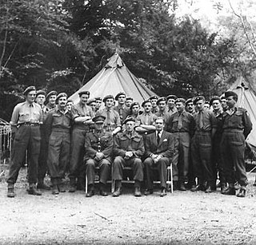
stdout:
POLYGON ((89 132, 85 141, 86 159, 94 159, 97 152, 102 152, 104 158, 111 160, 113 144, 113 136, 110 132, 89 132))

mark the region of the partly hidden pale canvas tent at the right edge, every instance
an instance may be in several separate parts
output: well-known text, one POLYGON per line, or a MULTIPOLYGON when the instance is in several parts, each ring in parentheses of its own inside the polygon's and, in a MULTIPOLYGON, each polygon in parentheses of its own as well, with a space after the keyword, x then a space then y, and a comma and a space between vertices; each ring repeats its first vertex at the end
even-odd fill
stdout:
POLYGON ((256 94, 250 84, 243 77, 239 77, 229 90, 238 94, 238 107, 247 110, 253 129, 246 139, 246 143, 250 146, 254 156, 256 156, 256 94))

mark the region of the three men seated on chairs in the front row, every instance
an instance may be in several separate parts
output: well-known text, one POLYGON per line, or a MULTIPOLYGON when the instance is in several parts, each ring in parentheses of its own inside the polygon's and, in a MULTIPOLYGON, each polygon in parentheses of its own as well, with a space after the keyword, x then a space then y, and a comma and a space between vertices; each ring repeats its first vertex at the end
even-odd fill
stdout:
POLYGON ((128 117, 123 124, 126 130, 112 137, 110 132, 103 130, 105 117, 93 118, 94 132, 86 137, 86 176, 89 184, 89 192, 86 196, 94 195, 95 167, 99 167, 100 195, 107 196, 106 180, 110 176, 111 154, 113 151, 113 180, 115 190, 113 196, 122 194, 122 174, 124 167, 131 167, 134 176, 134 196, 142 196, 141 185, 146 173, 146 195, 153 193, 152 171, 158 170, 161 182, 160 196, 166 196, 167 167, 174 153, 174 136, 163 130, 164 120, 157 117, 154 120, 156 132, 145 136, 139 135, 134 130, 135 120, 128 117), (142 161, 143 159, 144 162, 142 161))

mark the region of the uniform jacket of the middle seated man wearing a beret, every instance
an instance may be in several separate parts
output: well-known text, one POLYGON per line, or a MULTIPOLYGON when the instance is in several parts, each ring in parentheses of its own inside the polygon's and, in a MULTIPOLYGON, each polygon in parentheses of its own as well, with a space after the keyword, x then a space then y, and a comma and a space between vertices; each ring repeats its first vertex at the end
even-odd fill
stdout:
POLYGON ((143 137, 137 132, 132 132, 131 136, 126 131, 119 132, 114 137, 114 156, 124 157, 126 152, 133 152, 134 157, 143 156, 145 152, 143 137))

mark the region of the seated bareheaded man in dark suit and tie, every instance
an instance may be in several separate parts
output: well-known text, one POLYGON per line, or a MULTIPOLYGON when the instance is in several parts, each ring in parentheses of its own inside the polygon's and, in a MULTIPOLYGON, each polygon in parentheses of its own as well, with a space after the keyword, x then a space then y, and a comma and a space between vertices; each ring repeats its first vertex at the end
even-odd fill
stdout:
POLYGON ((146 192, 148 196, 153 193, 153 180, 152 180, 152 167, 156 166, 159 172, 161 181, 161 194, 166 196, 166 179, 167 179, 167 166, 170 165, 170 160, 174 154, 174 136, 170 132, 163 130, 164 120, 158 117, 154 120, 156 128, 155 133, 145 137, 145 155, 144 161, 146 169, 146 192))

